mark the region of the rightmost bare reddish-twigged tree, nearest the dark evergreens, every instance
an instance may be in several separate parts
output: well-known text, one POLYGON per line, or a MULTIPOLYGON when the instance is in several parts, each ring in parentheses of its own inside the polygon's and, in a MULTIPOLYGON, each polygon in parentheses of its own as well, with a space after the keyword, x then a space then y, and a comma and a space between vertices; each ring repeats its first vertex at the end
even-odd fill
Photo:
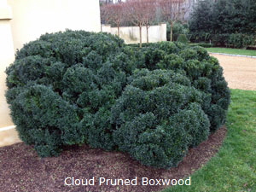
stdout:
POLYGON ((170 23, 170 41, 172 41, 173 26, 175 22, 183 21, 185 13, 189 10, 186 0, 159 0, 161 14, 170 23))

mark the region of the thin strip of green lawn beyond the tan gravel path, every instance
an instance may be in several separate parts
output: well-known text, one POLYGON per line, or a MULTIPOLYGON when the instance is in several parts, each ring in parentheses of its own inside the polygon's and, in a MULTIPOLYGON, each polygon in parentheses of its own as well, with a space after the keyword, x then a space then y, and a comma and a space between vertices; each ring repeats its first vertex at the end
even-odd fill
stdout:
POLYGON ((206 48, 208 52, 212 53, 225 53, 225 54, 234 54, 234 55, 251 55, 256 56, 256 50, 247 50, 247 49, 231 49, 231 48, 206 48))

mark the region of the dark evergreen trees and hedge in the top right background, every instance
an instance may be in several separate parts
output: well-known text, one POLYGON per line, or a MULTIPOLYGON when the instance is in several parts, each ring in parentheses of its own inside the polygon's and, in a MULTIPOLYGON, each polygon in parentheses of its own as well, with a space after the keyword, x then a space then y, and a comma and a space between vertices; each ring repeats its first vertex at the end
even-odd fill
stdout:
POLYGON ((192 40, 221 46, 255 44, 255 0, 201 0, 189 20, 192 40))

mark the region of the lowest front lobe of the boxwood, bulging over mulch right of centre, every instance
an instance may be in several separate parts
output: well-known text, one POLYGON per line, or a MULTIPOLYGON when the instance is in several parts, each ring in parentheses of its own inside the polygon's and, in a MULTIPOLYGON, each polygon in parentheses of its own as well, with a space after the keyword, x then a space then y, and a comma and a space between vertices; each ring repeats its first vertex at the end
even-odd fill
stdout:
POLYGON ((154 119, 153 113, 145 113, 127 122, 115 133, 117 143, 144 165, 177 166, 187 154, 186 131, 172 123, 156 125, 154 119))

